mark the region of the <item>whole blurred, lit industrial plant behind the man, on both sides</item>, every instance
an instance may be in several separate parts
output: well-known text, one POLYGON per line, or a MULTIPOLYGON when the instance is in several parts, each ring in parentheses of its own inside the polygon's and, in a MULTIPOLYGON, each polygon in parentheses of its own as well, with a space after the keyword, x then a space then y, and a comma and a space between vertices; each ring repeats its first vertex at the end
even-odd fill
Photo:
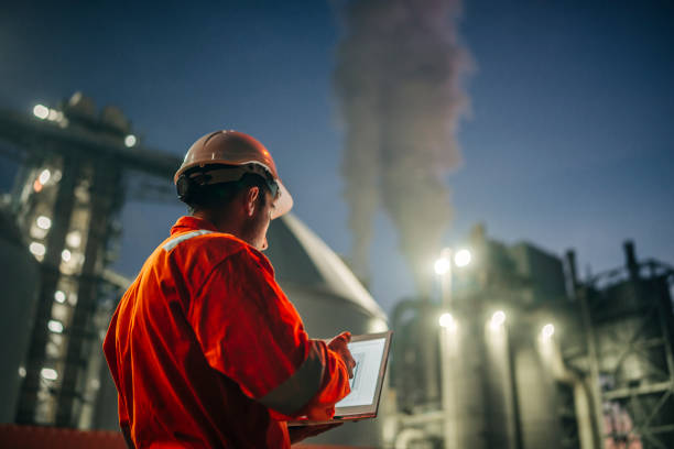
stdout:
MULTIPOLYGON (((0 441, 37 427, 70 429, 48 435, 73 441, 108 430, 122 448, 101 352, 131 282, 111 269, 120 210, 141 196, 173 200, 181 160, 79 92, 1 110, 0 157, 19 167, 0 210, 0 441)), ((507 245, 476 226, 465 248, 437 249, 434 288, 387 316, 296 216, 269 233, 267 255, 312 337, 394 331, 378 417, 307 443, 674 448, 674 267, 640 259, 635 242, 617 269, 579 275, 574 251, 507 245)))

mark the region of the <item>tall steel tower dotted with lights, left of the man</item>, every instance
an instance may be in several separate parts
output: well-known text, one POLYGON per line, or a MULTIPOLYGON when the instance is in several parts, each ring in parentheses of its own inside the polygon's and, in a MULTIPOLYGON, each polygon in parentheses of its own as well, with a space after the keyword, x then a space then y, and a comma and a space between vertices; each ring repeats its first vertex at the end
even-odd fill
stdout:
POLYGON ((11 208, 42 278, 15 421, 86 428, 100 386, 101 326, 126 283, 107 270, 117 216, 137 184, 145 198, 165 197, 181 161, 139 144, 121 111, 98 113, 80 94, 33 116, 0 111, 0 143, 21 164, 11 208))

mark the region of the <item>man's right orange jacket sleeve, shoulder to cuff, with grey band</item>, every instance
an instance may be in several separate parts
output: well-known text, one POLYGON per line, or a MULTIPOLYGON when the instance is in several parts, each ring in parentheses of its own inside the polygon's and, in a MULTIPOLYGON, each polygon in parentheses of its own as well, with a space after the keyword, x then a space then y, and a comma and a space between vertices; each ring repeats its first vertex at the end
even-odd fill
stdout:
POLYGON ((308 338, 267 259, 248 248, 214 269, 186 315, 210 366, 275 419, 316 409, 331 416, 349 393, 345 363, 308 338))

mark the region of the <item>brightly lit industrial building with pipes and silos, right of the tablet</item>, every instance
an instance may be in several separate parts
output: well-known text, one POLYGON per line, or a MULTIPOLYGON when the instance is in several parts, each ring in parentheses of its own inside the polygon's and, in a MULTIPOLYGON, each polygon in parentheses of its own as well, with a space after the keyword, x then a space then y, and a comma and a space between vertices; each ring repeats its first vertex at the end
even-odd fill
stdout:
POLYGON ((450 303, 412 298, 391 318, 405 447, 674 447, 671 266, 626 242, 623 266, 579 280, 573 251, 479 226, 468 244, 450 303))

